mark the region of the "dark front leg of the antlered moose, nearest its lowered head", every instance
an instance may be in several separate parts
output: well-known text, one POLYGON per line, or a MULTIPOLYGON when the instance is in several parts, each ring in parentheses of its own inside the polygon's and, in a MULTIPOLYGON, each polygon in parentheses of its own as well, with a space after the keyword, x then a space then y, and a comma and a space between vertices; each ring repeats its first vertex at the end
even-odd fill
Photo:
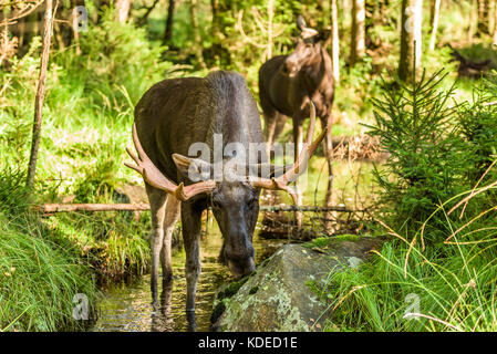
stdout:
POLYGON ((200 227, 203 209, 195 204, 182 205, 183 243, 186 253, 186 311, 195 313, 195 295, 200 275, 200 227))

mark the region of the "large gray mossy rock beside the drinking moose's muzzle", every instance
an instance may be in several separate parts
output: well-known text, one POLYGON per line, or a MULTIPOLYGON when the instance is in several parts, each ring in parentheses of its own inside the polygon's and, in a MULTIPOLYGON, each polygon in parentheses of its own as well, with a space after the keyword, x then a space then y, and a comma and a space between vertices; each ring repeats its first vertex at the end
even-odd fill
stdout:
POLYGON ((321 239, 319 246, 282 247, 250 278, 218 292, 213 330, 319 331, 330 313, 308 287, 309 281, 323 280, 344 267, 358 267, 381 243, 369 237, 330 238, 324 243, 321 239))

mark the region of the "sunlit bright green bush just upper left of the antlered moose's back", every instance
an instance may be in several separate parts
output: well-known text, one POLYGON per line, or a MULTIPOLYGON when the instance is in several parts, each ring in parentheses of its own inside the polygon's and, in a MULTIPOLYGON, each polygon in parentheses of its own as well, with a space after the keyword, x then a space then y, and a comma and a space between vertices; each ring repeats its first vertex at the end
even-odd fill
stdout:
POLYGON ((85 91, 96 97, 100 93, 99 106, 105 106, 106 100, 134 105, 151 82, 165 77, 172 63, 161 59, 164 48, 149 42, 144 29, 116 23, 112 15, 104 12, 101 25, 82 33, 81 54, 66 59, 74 61, 68 63, 70 80, 83 82, 85 91))

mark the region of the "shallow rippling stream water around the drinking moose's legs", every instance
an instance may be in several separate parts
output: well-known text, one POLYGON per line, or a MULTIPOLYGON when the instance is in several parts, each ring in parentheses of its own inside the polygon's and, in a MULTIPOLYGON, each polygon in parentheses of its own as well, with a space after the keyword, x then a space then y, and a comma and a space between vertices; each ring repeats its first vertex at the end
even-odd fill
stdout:
MULTIPOLYGON (((271 256, 284 240, 253 239, 256 264, 271 256)), ((222 240, 216 226, 201 241, 201 275, 197 288, 196 330, 209 331, 210 314, 216 290, 231 277, 226 267, 217 263, 222 240)), ((151 294, 151 275, 144 275, 133 282, 122 282, 104 289, 104 298, 99 303, 99 319, 92 329, 96 332, 148 332, 148 331, 188 331, 185 312, 186 279, 185 252, 176 250, 173 257, 174 282, 170 292, 170 309, 164 314, 154 312, 151 294)), ((162 282, 159 281, 159 293, 162 282)))

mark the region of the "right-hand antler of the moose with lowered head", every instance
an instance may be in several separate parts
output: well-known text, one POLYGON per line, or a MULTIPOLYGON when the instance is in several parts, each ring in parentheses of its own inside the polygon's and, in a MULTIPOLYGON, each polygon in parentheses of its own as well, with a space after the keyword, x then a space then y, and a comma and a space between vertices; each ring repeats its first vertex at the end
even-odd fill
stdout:
POLYGON ((318 138, 312 143, 312 135, 314 133, 315 125, 315 107, 312 101, 310 101, 309 104, 311 111, 311 121, 309 123, 309 129, 306 135, 304 145, 298 156, 297 162, 278 178, 250 178, 250 183, 253 187, 287 191, 292 197, 294 204, 297 204, 297 191, 288 185, 292 181, 296 181, 297 178, 299 178, 299 176, 304 173, 308 167, 309 158, 311 158, 311 156, 314 154, 318 145, 322 142, 327 133, 327 128, 324 128, 323 132, 318 136, 318 138))

